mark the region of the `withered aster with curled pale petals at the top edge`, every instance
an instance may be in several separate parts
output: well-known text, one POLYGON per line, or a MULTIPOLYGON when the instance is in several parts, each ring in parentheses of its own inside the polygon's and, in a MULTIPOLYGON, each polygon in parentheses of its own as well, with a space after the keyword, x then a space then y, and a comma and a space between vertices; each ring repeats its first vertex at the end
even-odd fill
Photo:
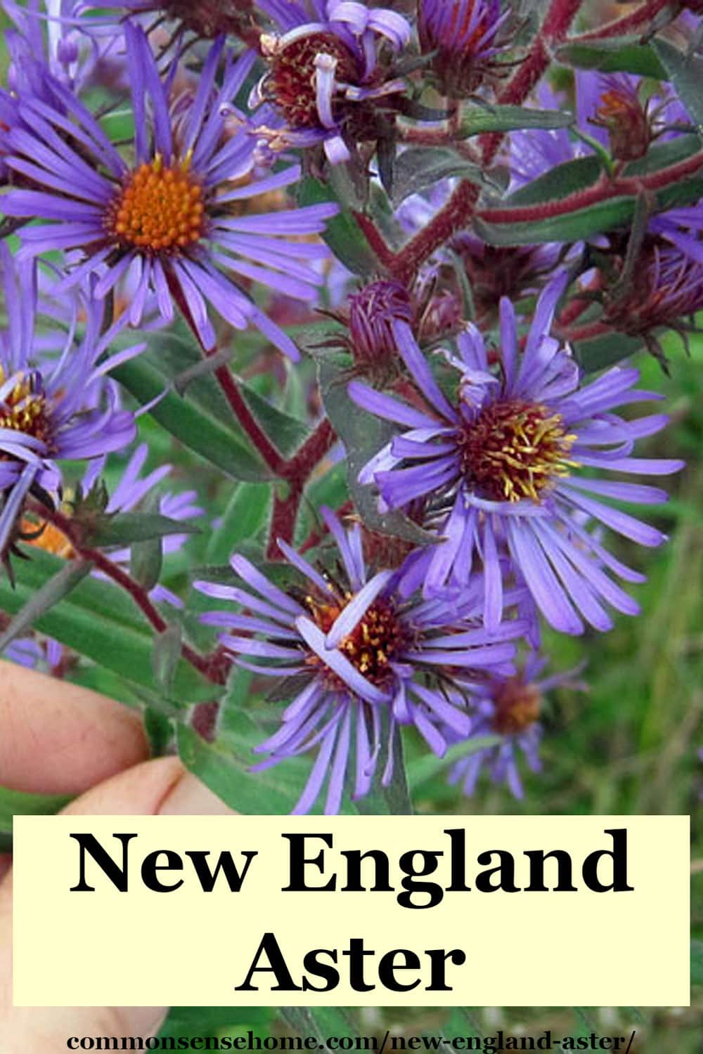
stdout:
MULTIPOLYGON (((285 120, 268 130, 274 149, 321 143, 332 164, 351 157, 350 147, 374 138, 375 108, 405 92, 403 79, 388 79, 380 44, 399 52, 410 25, 396 12, 352 0, 260 0, 282 32, 263 34, 259 46, 269 70, 252 95, 268 100, 285 120)), ((261 132, 266 132, 261 129, 261 132)))

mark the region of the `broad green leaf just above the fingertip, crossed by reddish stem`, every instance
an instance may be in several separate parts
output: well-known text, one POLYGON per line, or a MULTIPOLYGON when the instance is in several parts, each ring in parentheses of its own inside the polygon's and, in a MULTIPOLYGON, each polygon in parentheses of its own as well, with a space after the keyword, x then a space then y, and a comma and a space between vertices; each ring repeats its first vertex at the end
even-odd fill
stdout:
MULTIPOLYGON (((47 580, 65 567, 59 557, 33 549, 31 560, 15 566, 15 589, 5 579, 0 580, 0 610, 8 614, 21 611, 47 580)), ((87 575, 60 603, 41 613, 34 628, 133 684, 156 688, 154 631, 130 597, 112 582, 87 575)), ((187 705, 212 698, 212 685, 181 661, 174 695, 179 705, 187 705)))

